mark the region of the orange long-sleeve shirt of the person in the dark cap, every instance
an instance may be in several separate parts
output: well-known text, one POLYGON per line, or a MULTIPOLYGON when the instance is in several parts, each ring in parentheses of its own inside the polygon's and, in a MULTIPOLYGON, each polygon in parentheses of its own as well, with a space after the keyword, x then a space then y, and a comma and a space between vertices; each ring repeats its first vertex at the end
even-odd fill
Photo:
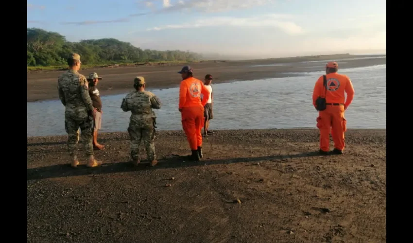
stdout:
POLYGON ((179 108, 192 107, 192 106, 205 106, 209 99, 209 92, 204 87, 199 79, 189 77, 182 80, 179 87, 179 108), (201 94, 204 95, 204 99, 201 102, 201 94))

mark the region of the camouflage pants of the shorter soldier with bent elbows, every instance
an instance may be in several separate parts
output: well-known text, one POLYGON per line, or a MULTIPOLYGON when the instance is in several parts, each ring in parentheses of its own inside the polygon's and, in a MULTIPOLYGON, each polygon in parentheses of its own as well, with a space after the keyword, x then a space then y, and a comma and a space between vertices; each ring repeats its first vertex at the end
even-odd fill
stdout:
POLYGON ((148 160, 155 160, 155 130, 153 125, 142 127, 138 124, 130 123, 128 127, 128 132, 131 139, 132 159, 139 159, 139 145, 141 140, 143 140, 148 160))

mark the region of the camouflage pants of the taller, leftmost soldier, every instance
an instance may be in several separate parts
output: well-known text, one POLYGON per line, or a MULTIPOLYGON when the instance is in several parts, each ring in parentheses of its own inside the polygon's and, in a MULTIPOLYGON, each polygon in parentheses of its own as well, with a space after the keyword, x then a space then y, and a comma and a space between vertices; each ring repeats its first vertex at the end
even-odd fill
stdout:
POLYGON ((74 159, 77 159, 77 142, 79 140, 79 127, 81 130, 81 137, 85 143, 86 156, 93 155, 93 144, 92 144, 92 130, 93 130, 93 120, 86 118, 86 120, 77 120, 71 117, 66 117, 65 119, 65 129, 68 133, 68 150, 69 155, 74 159))

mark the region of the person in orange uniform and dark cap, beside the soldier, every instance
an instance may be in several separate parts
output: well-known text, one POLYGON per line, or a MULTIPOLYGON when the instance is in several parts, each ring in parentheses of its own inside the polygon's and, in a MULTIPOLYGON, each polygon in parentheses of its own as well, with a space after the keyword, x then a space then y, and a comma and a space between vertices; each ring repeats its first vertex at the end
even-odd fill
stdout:
POLYGON ((182 75, 179 87, 179 111, 182 128, 191 148, 189 159, 199 161, 203 156, 201 130, 204 126, 204 106, 209 99, 209 92, 204 87, 204 83, 193 77, 191 67, 185 66, 178 73, 182 75), (204 96, 202 101, 201 94, 204 96))

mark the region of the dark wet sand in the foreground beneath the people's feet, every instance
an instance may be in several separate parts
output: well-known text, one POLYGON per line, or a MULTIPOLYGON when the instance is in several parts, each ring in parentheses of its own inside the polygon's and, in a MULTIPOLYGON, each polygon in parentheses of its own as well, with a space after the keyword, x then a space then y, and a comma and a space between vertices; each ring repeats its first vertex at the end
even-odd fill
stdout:
POLYGON ((103 166, 71 169, 66 136, 28 137, 28 242, 386 242, 386 130, 349 130, 342 156, 318 138, 216 131, 195 163, 182 131, 159 132, 158 166, 133 168, 127 133, 107 133, 103 166))

